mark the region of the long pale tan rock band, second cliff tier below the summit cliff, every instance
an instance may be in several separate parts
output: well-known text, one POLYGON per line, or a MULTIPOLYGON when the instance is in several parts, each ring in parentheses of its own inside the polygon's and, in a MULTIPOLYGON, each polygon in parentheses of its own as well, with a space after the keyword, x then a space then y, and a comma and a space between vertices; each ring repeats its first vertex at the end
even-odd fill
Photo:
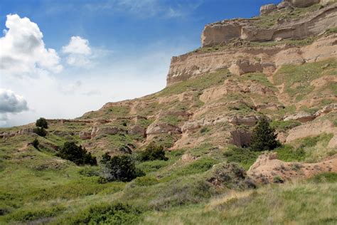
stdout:
POLYGON ((336 43, 337 34, 332 34, 323 36, 311 45, 304 47, 278 45, 229 48, 210 53, 187 53, 172 58, 167 75, 167 85, 223 68, 230 68, 232 73, 239 75, 261 71, 272 73, 280 66, 287 64, 301 65, 306 62, 323 61, 327 58, 337 57, 336 43))

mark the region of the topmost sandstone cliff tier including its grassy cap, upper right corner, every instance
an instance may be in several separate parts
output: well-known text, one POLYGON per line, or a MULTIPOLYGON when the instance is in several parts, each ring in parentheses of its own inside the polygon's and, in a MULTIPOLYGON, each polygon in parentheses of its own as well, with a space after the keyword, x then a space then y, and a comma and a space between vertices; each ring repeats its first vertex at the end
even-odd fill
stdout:
POLYGON ((210 23, 201 35, 203 47, 229 43, 233 38, 247 41, 274 41, 306 38, 337 26, 337 4, 329 1, 287 1, 279 6, 262 6, 262 15, 253 19, 232 19, 210 23), (315 4, 316 3, 316 4, 315 4), (308 7, 308 8, 296 8, 308 7))

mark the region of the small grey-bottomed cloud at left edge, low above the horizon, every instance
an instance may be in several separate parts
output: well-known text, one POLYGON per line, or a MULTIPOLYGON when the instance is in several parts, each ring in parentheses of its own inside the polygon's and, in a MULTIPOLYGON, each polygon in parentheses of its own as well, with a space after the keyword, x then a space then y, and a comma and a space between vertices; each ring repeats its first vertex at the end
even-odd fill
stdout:
POLYGON ((28 110, 27 102, 21 95, 11 90, 0 89, 0 125, 6 125, 8 114, 28 110))

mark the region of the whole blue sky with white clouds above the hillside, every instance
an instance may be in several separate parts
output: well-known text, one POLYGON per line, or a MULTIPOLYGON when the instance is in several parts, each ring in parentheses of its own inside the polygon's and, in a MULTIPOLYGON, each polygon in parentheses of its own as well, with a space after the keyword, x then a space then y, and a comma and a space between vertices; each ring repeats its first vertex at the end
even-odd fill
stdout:
POLYGON ((166 86, 207 23, 276 0, 1 0, 0 127, 75 118, 166 86))

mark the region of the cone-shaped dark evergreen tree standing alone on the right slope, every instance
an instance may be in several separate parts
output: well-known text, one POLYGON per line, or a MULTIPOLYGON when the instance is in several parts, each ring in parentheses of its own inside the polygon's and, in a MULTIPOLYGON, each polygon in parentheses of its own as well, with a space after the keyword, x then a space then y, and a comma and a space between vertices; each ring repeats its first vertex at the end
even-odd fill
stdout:
POLYGON ((265 151, 274 150, 280 145, 277 140, 277 134, 275 134, 275 130, 270 127, 267 117, 262 117, 253 130, 250 147, 253 151, 265 151))

